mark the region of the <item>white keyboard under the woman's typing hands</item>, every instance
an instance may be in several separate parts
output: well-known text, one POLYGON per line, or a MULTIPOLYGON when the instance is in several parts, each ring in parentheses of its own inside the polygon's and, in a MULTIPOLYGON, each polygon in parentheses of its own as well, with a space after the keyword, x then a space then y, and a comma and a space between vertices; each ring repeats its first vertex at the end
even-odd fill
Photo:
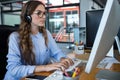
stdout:
MULTIPOLYGON (((84 66, 86 64, 86 61, 80 60, 80 59, 73 59, 74 65, 70 66, 66 71, 72 71, 77 66, 84 66)), ((63 80, 63 72, 60 70, 56 70, 51 75, 46 77, 44 80, 63 80)))

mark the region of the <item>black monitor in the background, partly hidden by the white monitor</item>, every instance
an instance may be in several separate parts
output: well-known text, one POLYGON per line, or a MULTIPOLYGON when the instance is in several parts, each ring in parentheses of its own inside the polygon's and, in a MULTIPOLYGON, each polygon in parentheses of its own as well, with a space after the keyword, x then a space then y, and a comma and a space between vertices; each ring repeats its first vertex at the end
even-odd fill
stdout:
POLYGON ((91 49, 95 36, 103 15, 103 9, 90 10, 86 12, 86 45, 85 48, 91 49))

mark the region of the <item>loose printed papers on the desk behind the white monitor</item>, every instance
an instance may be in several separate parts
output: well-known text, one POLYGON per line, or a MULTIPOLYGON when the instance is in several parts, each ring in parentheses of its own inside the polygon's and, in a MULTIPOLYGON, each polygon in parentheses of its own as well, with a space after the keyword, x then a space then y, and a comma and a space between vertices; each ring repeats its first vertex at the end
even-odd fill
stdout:
POLYGON ((98 68, 110 69, 113 63, 120 63, 114 57, 105 57, 99 64, 98 68))

